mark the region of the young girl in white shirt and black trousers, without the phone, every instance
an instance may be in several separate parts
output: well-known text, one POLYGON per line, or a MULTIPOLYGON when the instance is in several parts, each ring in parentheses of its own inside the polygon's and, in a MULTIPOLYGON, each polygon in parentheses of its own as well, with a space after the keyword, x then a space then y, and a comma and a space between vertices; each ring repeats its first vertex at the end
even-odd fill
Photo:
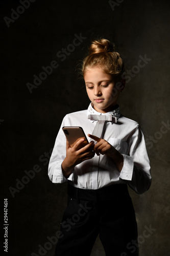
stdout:
POLYGON ((64 117, 48 168, 53 183, 68 182, 56 256, 90 255, 98 234, 107 256, 138 255, 127 184, 142 194, 151 185, 151 173, 138 123, 121 115, 116 104, 125 87, 124 72, 110 41, 92 42, 82 66, 91 103, 64 117), (70 147, 63 126, 83 127, 89 144, 80 148, 80 139, 70 147))

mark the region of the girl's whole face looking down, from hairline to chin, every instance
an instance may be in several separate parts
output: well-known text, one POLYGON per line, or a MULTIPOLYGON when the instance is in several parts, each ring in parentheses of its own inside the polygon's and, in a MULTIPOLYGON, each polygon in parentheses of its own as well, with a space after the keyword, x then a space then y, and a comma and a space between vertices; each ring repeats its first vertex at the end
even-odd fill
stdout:
POLYGON ((93 67, 85 71, 84 80, 93 108, 100 113, 113 110, 119 91, 115 88, 112 75, 106 74, 100 67, 93 67))

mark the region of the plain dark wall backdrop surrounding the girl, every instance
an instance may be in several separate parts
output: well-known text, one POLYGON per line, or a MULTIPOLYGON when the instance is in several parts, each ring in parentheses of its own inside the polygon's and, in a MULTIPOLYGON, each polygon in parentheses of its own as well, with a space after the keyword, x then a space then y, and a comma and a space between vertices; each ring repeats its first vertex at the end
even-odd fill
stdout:
MULTIPOLYGON (((127 70, 136 70, 139 56, 151 59, 128 78, 119 104, 126 117, 140 123, 152 166, 150 190, 139 196, 129 189, 140 256, 170 255, 170 132, 168 125, 161 129, 170 116, 169 1, 117 0, 111 8, 104 0, 36 0, 29 8, 18 9, 22 13, 17 18, 15 14, 8 26, 4 17, 11 18, 13 10, 22 5, 19 1, 1 1, 1 5, 1 198, 2 205, 3 198, 8 199, 9 223, 5 255, 54 255, 55 242, 50 243, 49 238, 60 227, 66 184, 50 182, 48 160, 64 115, 89 105, 76 67, 96 37, 115 43, 127 70), (84 39, 72 50, 69 44, 75 34, 84 39), (63 61, 56 55, 62 48, 71 50, 63 61), (33 84, 34 75, 39 77, 42 67, 53 60, 59 66, 31 93, 27 83, 33 84), (28 178, 27 172, 33 169, 28 178), (146 227, 152 228, 148 237, 146 227)), ((91 255, 105 255, 99 239, 91 255)))

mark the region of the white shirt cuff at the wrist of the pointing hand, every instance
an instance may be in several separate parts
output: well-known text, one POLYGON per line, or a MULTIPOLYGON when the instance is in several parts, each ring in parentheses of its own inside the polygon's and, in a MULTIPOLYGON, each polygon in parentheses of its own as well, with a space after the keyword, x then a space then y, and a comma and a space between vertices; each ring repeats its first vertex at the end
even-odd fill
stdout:
POLYGON ((124 166, 120 172, 120 179, 132 180, 133 175, 133 158, 122 154, 124 157, 124 166))

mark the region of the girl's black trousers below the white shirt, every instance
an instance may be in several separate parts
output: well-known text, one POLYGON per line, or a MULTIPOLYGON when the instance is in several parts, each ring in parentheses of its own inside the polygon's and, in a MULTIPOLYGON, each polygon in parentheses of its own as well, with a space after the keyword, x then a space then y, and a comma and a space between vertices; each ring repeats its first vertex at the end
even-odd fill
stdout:
POLYGON ((137 256, 137 224, 127 185, 80 189, 68 184, 68 204, 55 256, 88 256, 100 236, 106 256, 137 256))

